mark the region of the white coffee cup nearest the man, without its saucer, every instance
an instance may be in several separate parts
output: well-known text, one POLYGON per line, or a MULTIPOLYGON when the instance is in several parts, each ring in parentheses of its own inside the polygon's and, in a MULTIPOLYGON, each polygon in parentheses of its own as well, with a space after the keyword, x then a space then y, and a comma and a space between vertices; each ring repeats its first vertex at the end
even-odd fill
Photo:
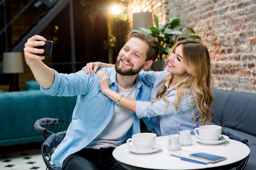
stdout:
POLYGON ((151 150, 155 146, 156 138, 155 133, 137 133, 132 135, 132 138, 127 139, 126 144, 136 150, 151 150))

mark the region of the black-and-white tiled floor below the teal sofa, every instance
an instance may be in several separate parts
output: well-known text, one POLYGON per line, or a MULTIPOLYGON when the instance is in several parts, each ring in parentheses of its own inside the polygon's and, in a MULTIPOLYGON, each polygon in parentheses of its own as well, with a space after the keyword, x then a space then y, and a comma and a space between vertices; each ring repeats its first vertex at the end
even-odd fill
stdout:
POLYGON ((0 147, 0 170, 46 170, 40 144, 0 147))

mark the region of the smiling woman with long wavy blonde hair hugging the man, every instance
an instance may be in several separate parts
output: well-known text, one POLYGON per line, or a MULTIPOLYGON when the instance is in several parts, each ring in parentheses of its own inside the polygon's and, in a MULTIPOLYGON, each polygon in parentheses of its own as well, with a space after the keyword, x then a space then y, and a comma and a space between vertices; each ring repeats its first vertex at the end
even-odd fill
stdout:
MULTIPOLYGON (((138 117, 151 117, 150 121, 160 136, 178 134, 211 122, 211 62, 207 47, 195 40, 182 40, 173 45, 167 55, 164 71, 142 71, 142 80, 153 86, 151 101, 143 102, 123 97, 109 88, 106 72, 99 71, 101 91, 124 108, 136 112, 138 117)), ((92 73, 103 63, 91 63, 83 68, 92 73)))

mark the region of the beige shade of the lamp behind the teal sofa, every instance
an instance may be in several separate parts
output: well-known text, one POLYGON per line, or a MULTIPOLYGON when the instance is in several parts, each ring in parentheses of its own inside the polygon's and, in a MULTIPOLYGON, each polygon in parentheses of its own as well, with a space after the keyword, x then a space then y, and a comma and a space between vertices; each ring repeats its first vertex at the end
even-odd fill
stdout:
POLYGON ((3 53, 3 73, 22 73, 23 71, 22 52, 3 53))

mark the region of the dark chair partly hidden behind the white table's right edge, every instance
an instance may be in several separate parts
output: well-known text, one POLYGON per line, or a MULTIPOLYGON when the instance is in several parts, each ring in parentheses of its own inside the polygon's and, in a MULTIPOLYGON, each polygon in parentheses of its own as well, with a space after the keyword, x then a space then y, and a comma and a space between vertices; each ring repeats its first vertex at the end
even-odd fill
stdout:
MULTIPOLYGON (((228 136, 230 139, 240 141, 240 142, 244 143, 245 145, 247 145, 250 148, 250 146, 248 144, 248 140, 245 137, 243 137, 243 136, 239 135, 238 133, 234 132, 233 130, 222 127, 222 134, 228 136)), ((236 166, 236 170, 245 169, 245 166, 247 164, 249 156, 250 155, 248 155, 245 159, 243 159, 242 161, 240 161, 238 163, 238 166, 236 166)))

